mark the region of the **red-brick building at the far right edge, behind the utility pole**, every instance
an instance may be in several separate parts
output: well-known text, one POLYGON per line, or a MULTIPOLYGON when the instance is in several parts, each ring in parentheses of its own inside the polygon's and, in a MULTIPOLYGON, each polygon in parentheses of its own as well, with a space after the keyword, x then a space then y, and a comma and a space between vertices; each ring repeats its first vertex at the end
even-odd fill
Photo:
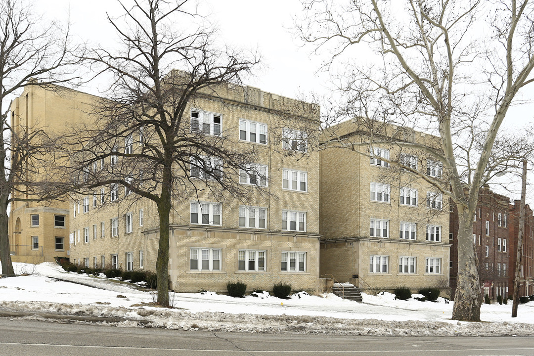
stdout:
MULTIPOLYGON (((508 285, 510 286, 509 295, 512 295, 512 287, 514 286, 515 280, 515 264, 517 260, 517 238, 519 236, 519 216, 520 216, 520 205, 521 201, 516 200, 514 204, 510 204, 509 207, 509 233, 508 233, 508 244, 509 244, 509 281, 508 285)), ((521 267, 520 267, 520 276, 519 276, 519 295, 528 296, 534 294, 534 275, 532 272, 532 266, 534 261, 532 260, 532 255, 534 254, 534 216, 532 216, 532 209, 529 204, 525 205, 525 223, 523 229, 523 255, 521 258, 521 267)))

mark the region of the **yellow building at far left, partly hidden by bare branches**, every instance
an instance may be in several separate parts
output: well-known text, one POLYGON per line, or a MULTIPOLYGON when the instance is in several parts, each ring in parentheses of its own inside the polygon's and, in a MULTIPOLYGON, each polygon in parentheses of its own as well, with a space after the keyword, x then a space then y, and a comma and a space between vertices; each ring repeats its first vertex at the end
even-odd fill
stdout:
MULTIPOLYGON (((97 97, 90 94, 59 86, 26 86, 11 104, 11 127, 15 131, 43 130, 53 136, 85 120, 96 100, 97 97)), ((21 193, 15 193, 15 197, 34 198, 21 193)), ((68 256, 69 203, 66 199, 14 201, 10 209, 9 236, 13 262, 51 262, 54 257, 68 256)))

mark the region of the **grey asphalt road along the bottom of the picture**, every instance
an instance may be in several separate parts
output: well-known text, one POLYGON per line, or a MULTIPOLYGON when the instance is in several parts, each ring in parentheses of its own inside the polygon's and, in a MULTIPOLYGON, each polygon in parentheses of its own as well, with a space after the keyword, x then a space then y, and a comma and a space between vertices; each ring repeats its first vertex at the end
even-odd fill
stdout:
POLYGON ((534 355, 534 337, 210 333, 0 318, 2 356, 534 355))

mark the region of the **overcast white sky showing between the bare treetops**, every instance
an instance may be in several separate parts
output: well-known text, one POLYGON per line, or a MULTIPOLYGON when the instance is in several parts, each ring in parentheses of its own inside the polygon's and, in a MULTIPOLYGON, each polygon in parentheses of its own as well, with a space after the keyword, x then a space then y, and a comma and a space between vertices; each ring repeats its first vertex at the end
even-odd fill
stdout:
MULTIPOLYGON (((115 32, 106 21, 106 12, 118 15, 121 9, 113 0, 38 0, 37 10, 46 16, 65 21, 70 18, 72 31, 90 43, 113 44, 115 32)), ((328 93, 331 83, 325 74, 317 74, 321 59, 311 56, 311 48, 301 48, 289 31, 292 18, 301 13, 299 0, 200 0, 201 8, 209 11, 216 22, 222 41, 241 48, 257 48, 264 67, 246 84, 264 91, 297 97, 301 93, 328 93)), ((95 88, 82 90, 98 94, 95 88)), ((524 92, 524 98, 534 99, 534 86, 524 92)), ((513 107, 505 121, 505 129, 520 130, 534 120, 534 106, 513 107)), ((534 176, 531 177, 531 181, 534 176)), ((519 186, 516 195, 519 199, 519 186)), ((534 185, 529 200, 534 200, 534 185)), ((499 189, 499 192, 505 193, 499 189)))

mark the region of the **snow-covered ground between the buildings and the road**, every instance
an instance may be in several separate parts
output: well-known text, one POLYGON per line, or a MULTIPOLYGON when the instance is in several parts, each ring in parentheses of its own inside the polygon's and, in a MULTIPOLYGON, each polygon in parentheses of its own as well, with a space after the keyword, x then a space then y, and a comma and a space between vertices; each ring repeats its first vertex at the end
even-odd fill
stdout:
POLYGON ((450 320, 453 302, 395 300, 384 292, 363 295, 363 303, 327 294, 305 293, 291 299, 268 294, 232 298, 205 294, 171 293, 176 308, 150 306, 152 292, 129 283, 65 272, 53 263, 14 264, 15 273, 0 279, 0 311, 59 313, 125 319, 117 326, 150 326, 184 330, 244 331, 249 333, 320 333, 343 335, 534 335, 534 302, 519 305, 483 304, 482 323, 450 320))

